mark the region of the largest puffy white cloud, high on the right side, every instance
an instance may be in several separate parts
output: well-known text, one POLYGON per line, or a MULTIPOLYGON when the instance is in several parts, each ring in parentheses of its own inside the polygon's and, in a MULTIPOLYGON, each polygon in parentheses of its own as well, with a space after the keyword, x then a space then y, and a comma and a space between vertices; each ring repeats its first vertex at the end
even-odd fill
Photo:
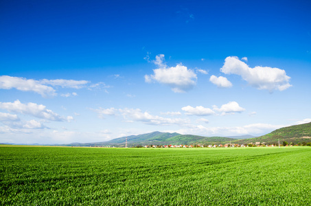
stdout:
POLYGON ((286 71, 283 69, 259 66, 251 68, 234 56, 229 56, 224 60, 224 66, 220 71, 239 75, 252 87, 267 89, 270 92, 284 91, 292 86, 289 83, 290 77, 286 76, 286 71))

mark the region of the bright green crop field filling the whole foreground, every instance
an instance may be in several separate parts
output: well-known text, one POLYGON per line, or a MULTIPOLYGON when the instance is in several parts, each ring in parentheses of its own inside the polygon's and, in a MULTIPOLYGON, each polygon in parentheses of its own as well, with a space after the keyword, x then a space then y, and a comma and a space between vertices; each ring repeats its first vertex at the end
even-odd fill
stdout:
POLYGON ((1 146, 0 205, 311 205, 311 148, 1 146))

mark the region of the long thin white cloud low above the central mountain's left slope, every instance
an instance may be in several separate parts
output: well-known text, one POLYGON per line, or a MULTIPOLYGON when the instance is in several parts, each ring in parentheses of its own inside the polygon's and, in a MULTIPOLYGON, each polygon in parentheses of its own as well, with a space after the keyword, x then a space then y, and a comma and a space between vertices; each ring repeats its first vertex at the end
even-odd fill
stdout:
POLYGON ((186 124, 185 119, 171 119, 165 117, 159 117, 157 115, 150 115, 148 112, 142 112, 139 108, 124 108, 119 109, 125 119, 130 121, 143 122, 145 124, 152 125, 169 125, 169 124, 186 124))

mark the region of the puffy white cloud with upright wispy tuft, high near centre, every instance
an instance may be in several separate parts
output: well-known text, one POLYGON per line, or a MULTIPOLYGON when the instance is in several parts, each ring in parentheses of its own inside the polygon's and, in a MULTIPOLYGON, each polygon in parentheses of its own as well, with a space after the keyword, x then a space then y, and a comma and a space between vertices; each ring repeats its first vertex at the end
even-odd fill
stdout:
POLYGON ((168 67, 164 62, 163 54, 157 55, 153 62, 159 68, 153 69, 153 75, 145 76, 146 82, 159 82, 168 85, 175 93, 184 93, 196 85, 197 77, 194 71, 181 64, 176 67, 168 67))

